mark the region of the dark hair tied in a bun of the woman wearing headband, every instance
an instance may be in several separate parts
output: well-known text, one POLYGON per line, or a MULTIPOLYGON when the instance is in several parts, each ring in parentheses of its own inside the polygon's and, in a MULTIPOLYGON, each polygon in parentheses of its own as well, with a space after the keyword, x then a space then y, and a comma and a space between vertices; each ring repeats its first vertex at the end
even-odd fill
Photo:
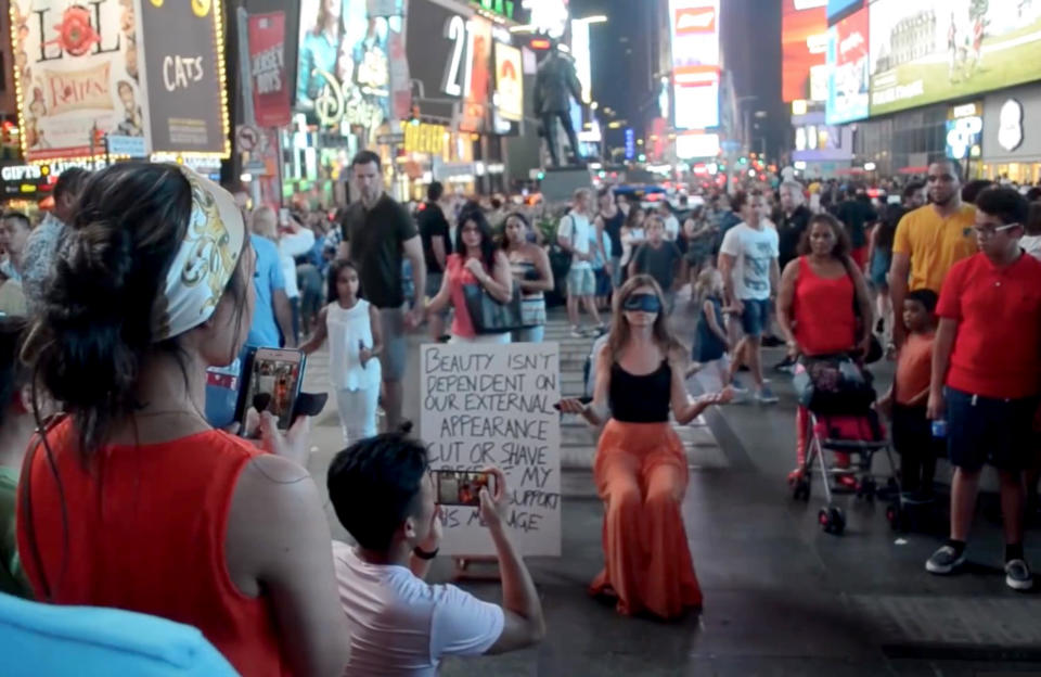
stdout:
POLYGON ((63 232, 26 355, 74 416, 85 450, 137 406, 153 306, 191 209, 177 166, 118 164, 88 179, 63 232))

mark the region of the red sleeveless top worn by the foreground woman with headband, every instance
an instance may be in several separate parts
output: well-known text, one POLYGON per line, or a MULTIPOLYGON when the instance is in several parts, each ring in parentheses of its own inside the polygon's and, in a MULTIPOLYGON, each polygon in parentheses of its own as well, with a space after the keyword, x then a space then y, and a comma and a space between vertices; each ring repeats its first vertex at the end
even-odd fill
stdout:
POLYGON ((224 558, 232 491, 261 450, 207 431, 83 462, 70 419, 48 440, 60 483, 41 444, 18 485, 18 552, 38 599, 193 625, 241 674, 288 674, 269 600, 243 595, 224 558))

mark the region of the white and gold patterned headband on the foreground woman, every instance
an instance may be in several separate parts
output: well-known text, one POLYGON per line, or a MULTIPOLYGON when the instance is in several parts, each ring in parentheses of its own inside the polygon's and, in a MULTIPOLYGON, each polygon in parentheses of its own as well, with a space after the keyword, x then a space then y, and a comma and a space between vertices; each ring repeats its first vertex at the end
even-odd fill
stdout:
POLYGON ((180 166, 192 186, 192 216, 152 317, 155 342, 183 334, 209 319, 234 274, 246 227, 231 193, 180 166))

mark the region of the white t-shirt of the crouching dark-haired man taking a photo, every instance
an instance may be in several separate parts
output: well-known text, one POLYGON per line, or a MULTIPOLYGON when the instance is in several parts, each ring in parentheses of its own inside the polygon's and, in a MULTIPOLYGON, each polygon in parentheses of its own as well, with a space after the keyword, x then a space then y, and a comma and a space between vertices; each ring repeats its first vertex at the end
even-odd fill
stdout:
POLYGON ((502 635, 502 608, 404 566, 370 564, 333 541, 339 602, 350 629, 344 675, 435 677, 441 656, 477 656, 502 635))

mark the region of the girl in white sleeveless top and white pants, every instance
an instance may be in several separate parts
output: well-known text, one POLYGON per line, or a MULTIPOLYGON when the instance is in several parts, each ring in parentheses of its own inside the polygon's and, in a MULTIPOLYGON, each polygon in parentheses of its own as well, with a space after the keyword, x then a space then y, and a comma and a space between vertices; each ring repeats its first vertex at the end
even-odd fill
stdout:
POLYGON ((358 297, 358 269, 345 259, 329 267, 329 305, 318 316, 318 327, 300 349, 310 355, 329 338, 329 376, 336 392, 344 443, 376 434, 380 403, 383 328, 380 310, 358 297))

